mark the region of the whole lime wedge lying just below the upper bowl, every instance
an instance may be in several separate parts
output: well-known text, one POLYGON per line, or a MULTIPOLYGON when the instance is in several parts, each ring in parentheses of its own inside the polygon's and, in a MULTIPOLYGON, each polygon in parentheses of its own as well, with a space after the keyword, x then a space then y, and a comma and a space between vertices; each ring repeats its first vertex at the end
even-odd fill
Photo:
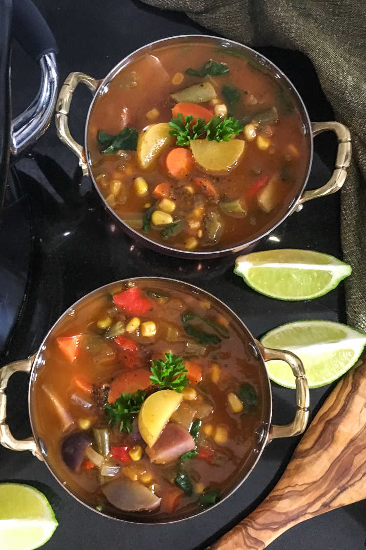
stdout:
POLYGON ((239 256, 234 273, 252 289, 278 300, 323 296, 352 272, 334 256, 312 250, 266 250, 239 256))

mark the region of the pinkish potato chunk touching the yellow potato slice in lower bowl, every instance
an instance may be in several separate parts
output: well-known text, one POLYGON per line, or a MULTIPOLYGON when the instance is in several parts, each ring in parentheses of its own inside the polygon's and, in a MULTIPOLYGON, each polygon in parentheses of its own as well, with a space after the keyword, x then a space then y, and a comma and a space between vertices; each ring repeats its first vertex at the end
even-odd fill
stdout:
POLYGON ((169 422, 155 445, 146 448, 146 453, 151 462, 167 464, 189 450, 193 450, 195 446, 193 437, 183 426, 169 422))

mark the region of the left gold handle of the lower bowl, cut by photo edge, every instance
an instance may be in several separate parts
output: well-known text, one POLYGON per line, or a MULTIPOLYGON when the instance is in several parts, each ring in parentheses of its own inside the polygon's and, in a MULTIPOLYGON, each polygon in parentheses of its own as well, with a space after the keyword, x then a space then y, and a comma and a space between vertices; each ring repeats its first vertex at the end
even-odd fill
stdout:
POLYGON ((11 450, 30 450, 38 459, 43 460, 35 438, 15 439, 6 422, 7 395, 5 394, 5 390, 7 389, 9 378, 14 372, 30 372, 34 359, 35 355, 32 355, 29 359, 14 361, 0 368, 0 444, 11 450))

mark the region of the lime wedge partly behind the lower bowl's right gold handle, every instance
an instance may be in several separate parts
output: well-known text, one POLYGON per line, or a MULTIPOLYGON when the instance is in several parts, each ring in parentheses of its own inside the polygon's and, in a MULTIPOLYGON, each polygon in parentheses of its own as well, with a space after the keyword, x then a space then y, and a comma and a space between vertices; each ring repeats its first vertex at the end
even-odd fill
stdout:
MULTIPOLYGON (((300 357, 310 388, 330 384, 357 361, 366 335, 333 321, 295 321, 264 334, 267 348, 285 349, 300 357)), ((280 386, 295 388, 295 378, 284 361, 266 362, 268 376, 280 386)))

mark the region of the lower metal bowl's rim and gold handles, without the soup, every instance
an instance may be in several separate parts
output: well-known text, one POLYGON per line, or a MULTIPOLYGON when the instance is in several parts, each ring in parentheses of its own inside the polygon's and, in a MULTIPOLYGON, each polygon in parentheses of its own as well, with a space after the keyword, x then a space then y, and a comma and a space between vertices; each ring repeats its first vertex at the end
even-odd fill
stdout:
MULTIPOLYGON (((44 349, 44 346, 47 345, 49 338, 52 337, 53 333, 57 330, 59 325, 63 323, 65 318, 67 316, 73 315, 75 310, 78 309, 82 304, 84 304, 87 300, 90 300, 93 298, 93 296, 97 296, 100 294, 107 294, 110 293, 113 288, 116 288, 116 285, 126 283, 128 281, 132 282, 151 282, 154 284, 154 282, 161 282, 164 285, 176 288, 177 290, 182 290, 185 293, 189 293, 190 295, 199 295, 200 298, 209 300, 210 303, 215 307, 217 307, 219 310, 221 310, 229 319, 230 326, 233 327, 235 332, 239 335, 240 339, 243 341, 244 345, 247 349, 247 355, 250 357, 251 363, 254 365, 258 373, 260 374, 260 383, 261 383, 261 392, 262 392, 262 413, 261 418, 257 423, 257 428, 255 430, 255 433, 253 434, 253 441, 254 441, 254 448, 252 449, 251 454, 246 459, 243 459, 243 464, 241 465, 241 468, 239 470, 238 475, 235 477, 234 482, 231 486, 226 487, 226 489, 221 494, 221 499, 219 503, 223 502, 224 499, 226 499, 230 494, 232 494, 235 489, 237 489, 249 476, 250 472, 254 468, 254 466, 257 464, 258 460, 261 457, 261 454, 263 452, 264 447, 266 446, 267 442, 271 439, 278 438, 278 437, 290 437, 290 436, 296 436, 300 433, 302 433, 307 425, 308 421, 308 406, 309 406, 309 390, 308 390, 308 384, 305 377, 305 372, 302 366, 302 363, 300 359, 290 353, 289 351, 281 351, 281 350, 274 350, 274 349, 268 349, 264 348, 260 342, 258 342, 249 332, 243 321, 232 311, 227 305, 222 303, 222 301, 218 300, 215 296, 212 294, 209 294, 205 292, 204 290, 201 290, 198 287, 195 287, 192 284, 184 283, 181 281, 177 281, 175 279, 166 279, 166 278, 160 278, 160 277, 137 277, 132 279, 124 279, 123 281, 117 281, 115 283, 107 284, 104 287, 100 287, 97 290, 94 290, 93 292, 87 294, 80 300, 78 300, 75 304, 73 304, 69 309, 67 309, 63 315, 58 319, 58 321, 54 324, 54 326, 50 329, 46 337, 44 338, 43 342, 40 345, 40 348, 38 351, 33 354, 29 359, 24 359, 21 361, 15 361, 8 365, 5 365, 0 370, 0 443, 7 447, 8 449, 12 450, 29 450, 33 455, 36 456, 39 460, 43 460, 50 472, 53 474, 55 479, 60 483, 60 485, 69 492, 74 498, 76 498, 79 502, 87 506, 88 508, 97 511, 97 513, 101 513, 102 515, 112 517, 118 520, 122 521, 129 521, 134 523, 144 523, 144 524, 150 524, 150 523, 161 523, 161 522, 171 522, 170 519, 163 519, 160 520, 159 518, 149 518, 149 514, 143 514, 141 513, 126 513, 126 512, 117 512, 114 514, 110 511, 99 511, 95 509, 95 503, 88 502, 85 497, 82 497, 80 494, 77 493, 75 488, 71 488, 68 486, 67 482, 63 479, 62 475, 60 475, 60 472, 57 471, 54 464, 52 464, 52 460, 49 459, 49 456, 47 454, 47 445, 44 441, 42 441, 42 438, 40 437, 40 434, 37 433, 37 420, 35 415, 36 410, 36 404, 35 404, 35 388, 37 386, 37 373, 40 370, 40 368, 43 367, 44 360, 42 359, 42 351, 44 349), (296 412, 294 420, 289 424, 285 426, 276 426, 271 423, 272 419, 272 393, 271 393, 271 384, 269 382, 269 378, 267 375, 266 365, 264 364, 264 361, 268 361, 271 359, 280 359, 282 361, 285 361, 289 367, 292 369, 292 372, 294 373, 294 376, 296 378, 296 412), (30 422, 32 427, 32 436, 28 439, 24 439, 22 441, 16 440, 12 433, 9 430, 9 427, 6 423, 6 416, 7 416, 7 396, 5 394, 5 390, 7 388, 8 380, 10 376, 13 375, 14 372, 29 372, 30 373, 30 383, 29 383, 29 393, 28 393, 28 405, 29 405, 29 416, 30 416, 30 422), (140 514, 140 515, 139 515, 140 514)), ((48 366, 49 368, 49 366, 48 366)), ((216 505, 219 505, 215 504, 216 505)), ((211 507, 212 508, 212 507, 211 507)), ((190 516, 197 515, 199 513, 203 513, 202 511, 198 510, 192 513, 192 511, 182 511, 181 515, 174 516, 174 520, 182 520, 187 519, 190 516)))

